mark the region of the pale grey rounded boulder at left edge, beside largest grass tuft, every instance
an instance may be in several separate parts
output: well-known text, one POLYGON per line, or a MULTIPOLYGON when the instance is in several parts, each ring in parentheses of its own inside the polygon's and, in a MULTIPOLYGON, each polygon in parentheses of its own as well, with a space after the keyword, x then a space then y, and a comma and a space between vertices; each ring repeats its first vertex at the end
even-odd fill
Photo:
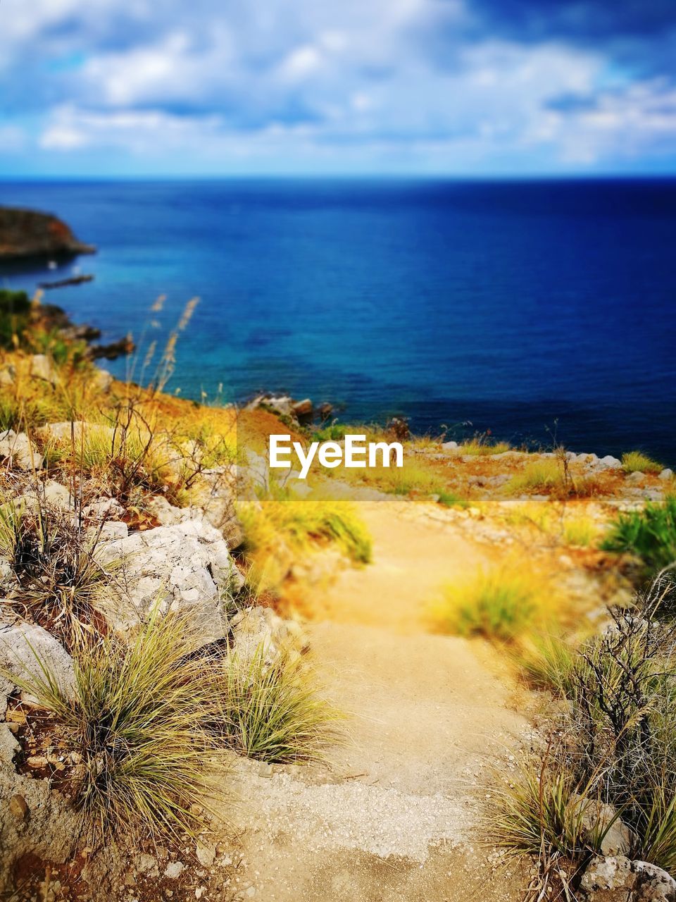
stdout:
POLYGON ((43 679, 42 667, 64 693, 73 694, 73 659, 47 630, 30 623, 0 624, 0 670, 5 672, 5 681, 12 676, 43 679))

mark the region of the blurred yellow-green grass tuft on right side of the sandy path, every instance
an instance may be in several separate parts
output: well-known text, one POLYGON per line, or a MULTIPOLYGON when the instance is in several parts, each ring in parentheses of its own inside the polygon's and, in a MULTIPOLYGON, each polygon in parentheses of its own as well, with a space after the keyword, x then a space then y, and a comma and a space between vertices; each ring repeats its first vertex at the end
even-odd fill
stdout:
POLYGON ((498 570, 480 573, 468 584, 449 586, 437 620, 448 632, 508 642, 533 624, 539 610, 532 580, 498 570))

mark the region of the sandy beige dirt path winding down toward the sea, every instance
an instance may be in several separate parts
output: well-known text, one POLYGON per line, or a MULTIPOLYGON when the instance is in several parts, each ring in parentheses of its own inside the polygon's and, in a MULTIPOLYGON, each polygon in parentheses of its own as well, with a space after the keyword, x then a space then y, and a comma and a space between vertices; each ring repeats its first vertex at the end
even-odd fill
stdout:
POLYGON ((521 875, 477 848, 477 785, 526 730, 497 656, 425 631, 428 600, 483 552, 457 530, 364 504, 373 563, 311 598, 315 664, 350 713, 330 766, 239 765, 242 898, 498 902, 521 875))

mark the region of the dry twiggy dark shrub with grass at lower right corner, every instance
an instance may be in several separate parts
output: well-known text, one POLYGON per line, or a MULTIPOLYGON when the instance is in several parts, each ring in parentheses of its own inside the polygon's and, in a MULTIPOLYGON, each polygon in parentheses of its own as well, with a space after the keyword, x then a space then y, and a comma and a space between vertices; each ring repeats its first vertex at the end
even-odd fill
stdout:
POLYGON ((676 627, 657 620, 675 591, 659 579, 581 645, 573 667, 566 661, 554 681, 569 707, 542 763, 498 793, 493 835, 509 851, 540 854, 544 882, 557 856, 577 866, 598 851, 607 824, 597 818, 581 835, 567 825, 583 807, 610 805, 635 833, 634 857, 676 867, 676 627))

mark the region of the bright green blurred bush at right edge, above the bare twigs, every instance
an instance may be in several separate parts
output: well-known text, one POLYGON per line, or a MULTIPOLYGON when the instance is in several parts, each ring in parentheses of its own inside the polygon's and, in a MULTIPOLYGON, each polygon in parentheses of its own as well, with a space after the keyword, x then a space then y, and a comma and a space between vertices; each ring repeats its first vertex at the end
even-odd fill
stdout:
POLYGON ((621 513, 601 543, 606 551, 630 553, 644 561, 647 574, 676 561, 676 497, 621 513))

